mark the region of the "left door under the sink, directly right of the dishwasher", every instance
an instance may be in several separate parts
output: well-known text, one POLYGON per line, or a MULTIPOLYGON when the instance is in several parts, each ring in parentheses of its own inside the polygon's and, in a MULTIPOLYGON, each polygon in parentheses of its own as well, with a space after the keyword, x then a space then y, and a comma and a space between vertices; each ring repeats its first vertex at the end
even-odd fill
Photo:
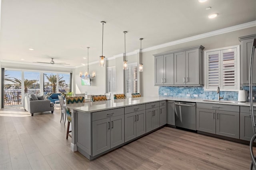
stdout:
POLYGON ((196 130, 216 133, 216 111, 212 109, 196 109, 196 130))

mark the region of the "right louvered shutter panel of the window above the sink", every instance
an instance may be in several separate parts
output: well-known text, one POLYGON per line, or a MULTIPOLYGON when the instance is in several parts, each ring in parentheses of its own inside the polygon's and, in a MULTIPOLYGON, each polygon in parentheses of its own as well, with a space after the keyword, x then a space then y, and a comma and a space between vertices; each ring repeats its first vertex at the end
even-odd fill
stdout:
POLYGON ((237 57, 236 49, 221 51, 222 89, 236 89, 237 87, 237 57))

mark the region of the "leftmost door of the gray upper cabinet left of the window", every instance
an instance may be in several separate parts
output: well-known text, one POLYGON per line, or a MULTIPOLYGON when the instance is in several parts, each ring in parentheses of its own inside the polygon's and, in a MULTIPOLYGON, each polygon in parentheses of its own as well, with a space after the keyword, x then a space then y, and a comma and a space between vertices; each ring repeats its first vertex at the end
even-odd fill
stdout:
POLYGON ((164 84, 164 58, 163 55, 155 57, 155 85, 164 84))

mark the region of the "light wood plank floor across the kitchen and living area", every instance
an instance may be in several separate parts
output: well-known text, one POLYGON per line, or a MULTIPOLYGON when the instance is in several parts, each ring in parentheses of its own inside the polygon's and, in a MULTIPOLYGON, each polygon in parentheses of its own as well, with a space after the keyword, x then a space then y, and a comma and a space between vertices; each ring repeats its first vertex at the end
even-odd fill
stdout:
POLYGON ((53 114, 35 113, 34 117, 24 109, 0 110, 0 169, 247 170, 250 167, 248 145, 170 127, 89 161, 70 150, 67 124, 60 123, 60 117, 60 109, 53 114))

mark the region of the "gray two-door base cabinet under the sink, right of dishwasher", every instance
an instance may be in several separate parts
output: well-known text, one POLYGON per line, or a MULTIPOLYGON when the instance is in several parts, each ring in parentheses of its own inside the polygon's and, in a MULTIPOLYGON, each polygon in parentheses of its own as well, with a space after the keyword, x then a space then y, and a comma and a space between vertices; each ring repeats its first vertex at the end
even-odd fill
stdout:
POLYGON ((239 106, 196 105, 196 130, 239 139, 239 106))

